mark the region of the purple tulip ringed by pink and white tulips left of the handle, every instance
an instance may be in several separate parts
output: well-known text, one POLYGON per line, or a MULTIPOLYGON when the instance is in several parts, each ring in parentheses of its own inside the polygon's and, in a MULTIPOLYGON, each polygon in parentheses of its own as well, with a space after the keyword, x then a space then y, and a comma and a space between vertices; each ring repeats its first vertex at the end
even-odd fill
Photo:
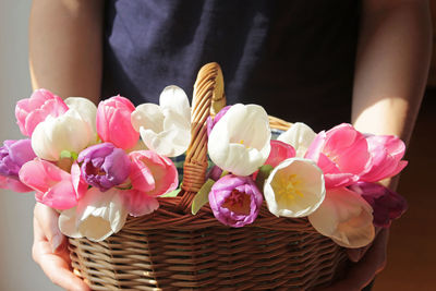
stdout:
POLYGON ((83 162, 82 178, 101 192, 123 183, 130 174, 129 156, 111 143, 85 148, 78 155, 77 161, 83 162))

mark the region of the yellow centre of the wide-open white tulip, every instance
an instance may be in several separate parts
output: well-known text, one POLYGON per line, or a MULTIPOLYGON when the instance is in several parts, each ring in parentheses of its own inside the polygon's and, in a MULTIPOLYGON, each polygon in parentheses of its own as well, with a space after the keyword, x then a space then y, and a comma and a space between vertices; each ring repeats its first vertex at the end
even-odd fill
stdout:
POLYGON ((302 192, 303 181, 296 174, 278 174, 272 181, 278 203, 292 202, 298 197, 304 197, 302 192))

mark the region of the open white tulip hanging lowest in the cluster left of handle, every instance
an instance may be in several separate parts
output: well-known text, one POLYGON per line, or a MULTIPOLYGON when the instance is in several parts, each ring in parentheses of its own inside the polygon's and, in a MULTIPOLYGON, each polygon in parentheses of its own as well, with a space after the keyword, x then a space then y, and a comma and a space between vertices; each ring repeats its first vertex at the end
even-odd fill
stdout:
POLYGON ((121 195, 117 189, 89 189, 76 208, 61 213, 59 229, 68 237, 85 237, 95 242, 109 238, 122 229, 129 214, 121 195))

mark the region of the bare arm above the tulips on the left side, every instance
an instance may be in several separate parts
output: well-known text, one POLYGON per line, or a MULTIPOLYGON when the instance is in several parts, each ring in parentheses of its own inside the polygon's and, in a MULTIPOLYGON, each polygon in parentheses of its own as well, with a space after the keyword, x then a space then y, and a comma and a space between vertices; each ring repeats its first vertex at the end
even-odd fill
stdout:
POLYGON ((98 102, 102 0, 34 0, 29 19, 32 86, 98 102))

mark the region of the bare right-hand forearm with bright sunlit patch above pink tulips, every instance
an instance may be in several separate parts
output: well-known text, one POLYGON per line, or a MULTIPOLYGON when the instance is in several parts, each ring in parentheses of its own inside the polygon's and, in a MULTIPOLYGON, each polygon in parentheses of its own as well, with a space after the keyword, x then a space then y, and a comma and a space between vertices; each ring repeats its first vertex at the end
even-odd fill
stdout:
POLYGON ((366 0, 353 90, 352 122, 366 133, 409 142, 431 59, 428 3, 366 0))

